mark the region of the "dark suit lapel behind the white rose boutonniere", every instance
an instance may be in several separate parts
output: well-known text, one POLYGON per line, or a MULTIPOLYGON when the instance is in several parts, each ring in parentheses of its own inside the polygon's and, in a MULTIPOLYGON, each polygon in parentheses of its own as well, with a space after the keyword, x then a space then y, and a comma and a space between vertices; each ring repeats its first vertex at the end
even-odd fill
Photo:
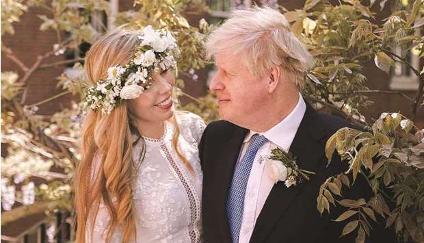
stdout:
MULTIPOLYGON (((314 171, 317 162, 323 155, 323 142, 318 140, 325 135, 323 127, 317 123, 316 112, 306 103, 306 112, 289 151, 295 155, 297 165, 304 169, 314 171)), ((282 136, 284 136, 282 134, 282 136)), ((312 177, 314 175, 311 175, 312 177)), ((267 235, 271 233, 274 225, 284 216, 284 212, 289 208, 295 198, 302 192, 308 181, 287 188, 284 182, 279 181, 269 192, 265 205, 256 220, 256 225, 250 238, 250 242, 264 242, 267 235)), ((293 220, 293 219, 291 219, 293 220)))

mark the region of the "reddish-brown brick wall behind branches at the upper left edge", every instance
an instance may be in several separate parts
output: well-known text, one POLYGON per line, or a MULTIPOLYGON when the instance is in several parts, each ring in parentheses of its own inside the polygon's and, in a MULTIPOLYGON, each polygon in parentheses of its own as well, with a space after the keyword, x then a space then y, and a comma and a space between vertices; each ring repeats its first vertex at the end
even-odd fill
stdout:
MULTIPOLYGON (((54 31, 40 31, 39 26, 42 21, 37 17, 38 14, 47 15, 47 12, 40 8, 29 8, 21 16, 21 22, 14 24, 15 34, 2 37, 3 44, 12 49, 14 55, 30 68, 37 60, 38 55, 44 55, 53 50, 53 44, 57 42, 54 31)), ((64 55, 54 56, 47 59, 43 64, 50 64, 65 60, 64 55)), ((45 68, 36 71, 27 80, 28 93, 25 104, 32 104, 52 97, 59 92, 60 88, 56 88, 57 80, 64 66, 57 68, 45 68)), ((17 71, 19 77, 23 77, 21 69, 14 64, 6 55, 1 55, 1 71, 17 71)), ((40 106, 40 114, 52 114, 53 112, 68 106, 70 95, 55 99, 49 103, 40 106)))

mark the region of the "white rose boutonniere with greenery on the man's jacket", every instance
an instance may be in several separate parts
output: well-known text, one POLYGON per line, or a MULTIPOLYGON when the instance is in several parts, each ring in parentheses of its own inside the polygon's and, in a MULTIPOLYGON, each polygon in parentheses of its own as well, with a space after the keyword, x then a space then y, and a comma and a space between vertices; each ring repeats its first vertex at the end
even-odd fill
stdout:
POLYGON ((315 174, 315 172, 299 168, 296 164, 296 157, 280 148, 271 150, 271 156, 268 162, 271 166, 269 175, 271 179, 275 183, 284 181, 287 188, 293 185, 296 186, 303 181, 308 181, 309 175, 315 174))

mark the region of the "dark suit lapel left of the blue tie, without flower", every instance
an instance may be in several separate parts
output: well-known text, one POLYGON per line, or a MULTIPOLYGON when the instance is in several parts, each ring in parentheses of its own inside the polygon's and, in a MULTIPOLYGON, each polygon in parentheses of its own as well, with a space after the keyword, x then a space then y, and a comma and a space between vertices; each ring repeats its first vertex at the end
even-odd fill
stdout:
POLYGON ((226 242, 226 240, 229 240, 230 242, 231 239, 230 227, 226 216, 226 200, 228 197, 230 183, 233 179, 235 164, 237 163, 241 145, 243 144, 246 133, 248 133, 247 129, 235 126, 235 130, 228 134, 228 140, 223 144, 220 144, 220 147, 224 149, 216 156, 217 163, 211 166, 215 175, 211 175, 210 178, 217 179, 213 183, 215 190, 211 190, 215 192, 213 195, 213 214, 215 214, 215 217, 217 218, 217 222, 215 223, 220 234, 222 234, 222 242, 226 242))

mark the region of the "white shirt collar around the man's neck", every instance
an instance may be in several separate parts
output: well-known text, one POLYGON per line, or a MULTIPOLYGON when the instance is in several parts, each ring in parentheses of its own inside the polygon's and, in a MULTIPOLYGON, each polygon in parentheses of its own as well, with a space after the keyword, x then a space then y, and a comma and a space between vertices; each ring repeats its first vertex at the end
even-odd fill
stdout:
POLYGON ((300 122, 306 111, 306 103, 302 98, 302 94, 299 93, 299 100, 297 101, 297 105, 290 112, 288 116, 286 116, 283 120, 280 121, 274 127, 271 127, 268 131, 265 132, 257 132, 250 130, 246 138, 243 140, 244 142, 249 142, 250 138, 254 134, 259 134, 265 136, 267 140, 273 142, 277 146, 282 149, 289 149, 291 142, 295 137, 297 128, 299 128, 300 122), (284 134, 284 136, 282 136, 284 134))

